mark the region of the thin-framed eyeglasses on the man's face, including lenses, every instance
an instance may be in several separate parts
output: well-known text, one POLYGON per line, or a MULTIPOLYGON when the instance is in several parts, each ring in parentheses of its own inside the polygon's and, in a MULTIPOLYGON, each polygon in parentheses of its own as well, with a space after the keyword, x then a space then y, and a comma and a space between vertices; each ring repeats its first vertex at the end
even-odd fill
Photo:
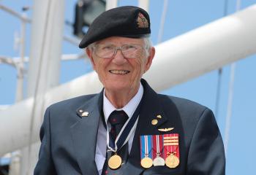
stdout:
POLYGON ((142 54, 143 47, 138 44, 124 44, 119 47, 113 44, 97 44, 94 47, 95 54, 101 58, 112 58, 117 50, 121 50, 124 58, 138 58, 142 54))

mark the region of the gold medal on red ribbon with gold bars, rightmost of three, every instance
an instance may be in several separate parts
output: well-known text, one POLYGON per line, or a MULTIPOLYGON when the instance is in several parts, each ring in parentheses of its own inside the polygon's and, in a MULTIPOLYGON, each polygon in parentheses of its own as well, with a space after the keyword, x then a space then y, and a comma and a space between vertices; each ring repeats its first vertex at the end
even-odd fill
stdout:
POLYGON ((164 157, 167 167, 176 168, 178 166, 180 160, 177 133, 164 135, 164 157))

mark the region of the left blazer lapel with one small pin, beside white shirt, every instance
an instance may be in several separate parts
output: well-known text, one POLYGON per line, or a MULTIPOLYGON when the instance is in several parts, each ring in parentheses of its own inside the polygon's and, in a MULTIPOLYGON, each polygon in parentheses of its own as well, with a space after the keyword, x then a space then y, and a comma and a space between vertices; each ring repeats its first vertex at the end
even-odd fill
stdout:
POLYGON ((95 163, 95 149, 101 109, 102 92, 77 109, 80 119, 70 127, 78 165, 82 174, 98 174, 95 163))

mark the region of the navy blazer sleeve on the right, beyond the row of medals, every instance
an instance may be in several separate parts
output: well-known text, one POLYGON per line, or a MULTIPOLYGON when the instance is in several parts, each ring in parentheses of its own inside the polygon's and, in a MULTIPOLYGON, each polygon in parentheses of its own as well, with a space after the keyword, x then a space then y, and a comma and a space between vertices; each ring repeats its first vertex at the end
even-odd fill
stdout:
POLYGON ((213 112, 205 109, 189 147, 187 175, 225 175, 225 151, 213 112))

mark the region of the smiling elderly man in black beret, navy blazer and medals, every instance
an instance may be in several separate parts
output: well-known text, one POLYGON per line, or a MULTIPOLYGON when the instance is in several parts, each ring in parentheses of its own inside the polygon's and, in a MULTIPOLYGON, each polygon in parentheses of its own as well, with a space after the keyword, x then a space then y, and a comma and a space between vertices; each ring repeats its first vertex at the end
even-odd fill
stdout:
POLYGON ((79 47, 104 88, 48 107, 34 174, 225 174, 211 110, 160 95, 142 79, 155 53, 150 34, 139 7, 110 9, 94 20, 79 47))

